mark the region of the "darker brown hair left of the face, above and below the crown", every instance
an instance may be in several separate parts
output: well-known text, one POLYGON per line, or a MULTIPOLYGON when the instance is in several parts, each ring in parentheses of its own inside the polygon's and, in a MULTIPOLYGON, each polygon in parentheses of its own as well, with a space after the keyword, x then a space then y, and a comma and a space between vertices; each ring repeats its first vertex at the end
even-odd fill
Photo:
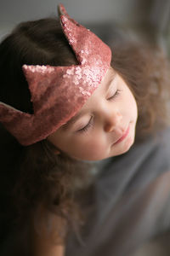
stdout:
MULTIPOLYGON (((33 113, 30 91, 21 69, 23 64, 77 64, 58 20, 50 18, 21 23, 0 44, 0 101, 33 113)), ((74 197, 75 190, 85 188, 89 183, 88 165, 72 160, 64 153, 54 154, 56 148, 46 140, 23 147, 3 125, 0 125, 0 139, 3 236, 9 236, 13 230, 15 243, 20 244, 14 246, 15 250, 18 253, 20 248, 24 255, 29 252, 32 224, 39 234, 46 226, 44 232, 48 236, 63 242, 68 226, 77 232, 77 225, 82 223, 74 197), (48 224, 52 213, 58 217, 57 228, 48 224)))

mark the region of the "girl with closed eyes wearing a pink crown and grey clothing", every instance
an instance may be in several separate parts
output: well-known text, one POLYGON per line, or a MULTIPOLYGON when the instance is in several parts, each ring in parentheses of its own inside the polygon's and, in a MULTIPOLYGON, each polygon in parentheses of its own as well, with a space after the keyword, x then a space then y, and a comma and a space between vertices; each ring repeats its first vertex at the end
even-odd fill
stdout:
POLYGON ((0 45, 1 255, 132 255, 168 229, 168 64, 59 15, 0 45))

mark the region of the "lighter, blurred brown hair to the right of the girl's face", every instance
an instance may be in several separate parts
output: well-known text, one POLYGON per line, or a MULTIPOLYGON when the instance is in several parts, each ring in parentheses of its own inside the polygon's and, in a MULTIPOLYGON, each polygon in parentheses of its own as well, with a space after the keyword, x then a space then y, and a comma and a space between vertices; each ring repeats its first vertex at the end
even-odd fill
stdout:
POLYGON ((112 67, 126 81, 138 105, 135 142, 169 126, 169 61, 159 46, 126 42, 112 49, 112 67))

